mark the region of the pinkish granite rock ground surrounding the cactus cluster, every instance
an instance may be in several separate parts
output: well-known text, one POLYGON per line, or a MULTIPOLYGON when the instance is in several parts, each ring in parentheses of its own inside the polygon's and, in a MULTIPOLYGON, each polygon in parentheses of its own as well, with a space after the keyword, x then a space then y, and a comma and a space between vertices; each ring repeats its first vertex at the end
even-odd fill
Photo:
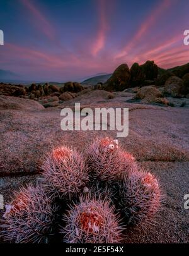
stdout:
MULTIPOLYGON (((83 95, 61 107, 80 102, 90 107, 129 107, 129 136, 120 138, 141 166, 159 178, 164 193, 156 225, 129 228, 127 243, 188 243, 189 210, 184 195, 189 193, 189 115, 187 107, 131 104, 118 94, 83 95), (87 99, 87 100, 86 100, 87 99)), ((13 190, 35 180, 44 155, 57 145, 73 145, 80 150, 97 135, 116 137, 116 131, 62 131, 60 108, 25 111, 0 109, 0 193, 8 202, 13 190)), ((1 211, 2 214, 2 211, 1 211)))

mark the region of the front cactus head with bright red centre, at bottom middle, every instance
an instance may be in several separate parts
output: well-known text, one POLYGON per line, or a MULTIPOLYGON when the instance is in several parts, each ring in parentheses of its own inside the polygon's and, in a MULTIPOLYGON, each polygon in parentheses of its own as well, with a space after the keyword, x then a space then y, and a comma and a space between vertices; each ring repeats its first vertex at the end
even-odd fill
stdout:
POLYGON ((123 227, 107 200, 81 197, 79 204, 70 207, 62 228, 67 243, 119 243, 123 227))

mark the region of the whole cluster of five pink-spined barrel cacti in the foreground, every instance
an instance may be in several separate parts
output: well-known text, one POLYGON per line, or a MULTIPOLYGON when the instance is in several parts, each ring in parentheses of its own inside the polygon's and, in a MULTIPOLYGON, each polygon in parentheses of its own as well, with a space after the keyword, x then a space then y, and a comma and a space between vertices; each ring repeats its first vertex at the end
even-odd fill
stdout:
POLYGON ((21 188, 6 205, 4 240, 118 243, 125 226, 152 222, 161 205, 154 174, 112 138, 96 138, 85 154, 58 147, 42 170, 37 185, 21 188))

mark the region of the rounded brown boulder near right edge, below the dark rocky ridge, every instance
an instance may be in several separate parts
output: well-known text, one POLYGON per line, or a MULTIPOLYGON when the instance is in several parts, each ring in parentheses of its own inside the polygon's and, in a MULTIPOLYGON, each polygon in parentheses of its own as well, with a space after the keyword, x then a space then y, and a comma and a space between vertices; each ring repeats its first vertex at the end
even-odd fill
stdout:
POLYGON ((178 76, 170 76, 164 85, 164 95, 171 97, 180 97, 183 80, 178 76))

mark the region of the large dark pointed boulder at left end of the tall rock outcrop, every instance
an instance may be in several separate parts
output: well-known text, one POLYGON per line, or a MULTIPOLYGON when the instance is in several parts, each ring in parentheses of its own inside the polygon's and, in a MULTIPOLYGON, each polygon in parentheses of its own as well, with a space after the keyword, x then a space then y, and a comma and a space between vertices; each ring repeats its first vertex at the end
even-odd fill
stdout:
POLYGON ((130 70, 127 64, 121 64, 105 82, 103 89, 107 91, 122 91, 130 87, 130 70))

